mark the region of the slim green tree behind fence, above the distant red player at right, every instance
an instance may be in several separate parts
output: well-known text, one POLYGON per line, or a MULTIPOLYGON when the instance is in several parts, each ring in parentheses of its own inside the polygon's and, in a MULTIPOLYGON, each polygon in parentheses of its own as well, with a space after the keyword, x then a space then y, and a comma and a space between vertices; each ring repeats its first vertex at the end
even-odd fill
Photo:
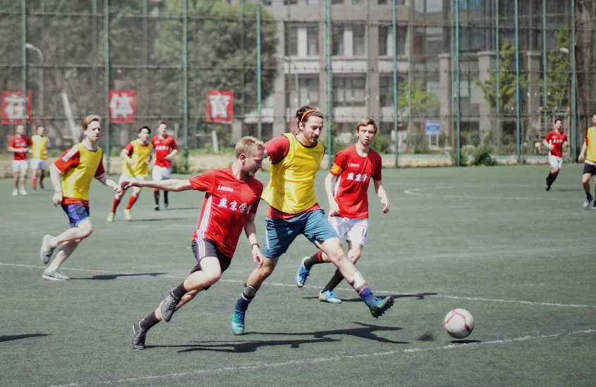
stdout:
MULTIPOLYGON (((569 106, 570 56, 559 51, 569 46, 568 28, 555 32, 554 40, 556 49, 550 51, 547 56, 547 105, 569 106)), ((541 82, 540 95, 544 96, 544 92, 544 84, 541 82)))

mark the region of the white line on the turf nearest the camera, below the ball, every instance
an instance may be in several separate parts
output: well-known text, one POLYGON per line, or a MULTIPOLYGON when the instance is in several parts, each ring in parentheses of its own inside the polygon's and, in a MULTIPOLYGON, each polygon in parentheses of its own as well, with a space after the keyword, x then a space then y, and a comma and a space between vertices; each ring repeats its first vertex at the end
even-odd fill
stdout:
POLYGON ((332 357, 319 357, 318 359, 303 359, 303 360, 290 360, 288 362, 263 363, 263 364, 255 364, 252 366, 245 366, 245 367, 221 367, 221 368, 213 368, 213 369, 196 369, 195 371, 175 372, 175 373, 164 374, 164 375, 138 376, 138 377, 134 377, 134 378, 106 380, 106 381, 83 381, 83 382, 75 382, 75 383, 70 383, 70 384, 61 384, 59 386, 51 386, 51 387, 99 386, 102 384, 115 385, 116 383, 150 381, 150 380, 155 380, 155 379, 176 378, 176 377, 180 377, 180 376, 197 376, 197 375, 205 375, 205 374, 219 374, 221 372, 252 371, 252 370, 258 370, 258 369, 287 367, 287 366, 303 365, 303 364, 320 364, 322 362, 361 359, 363 357, 390 356, 390 355, 396 355, 396 354, 400 354, 400 353, 408 354, 408 353, 428 352, 428 351, 432 351, 432 350, 449 350, 449 349, 455 349, 455 348, 470 348, 470 347, 475 347, 475 346, 479 346, 479 345, 519 343, 522 341, 557 338, 557 337, 573 336, 573 335, 579 335, 579 334, 593 334, 594 332, 596 332, 595 329, 585 329, 583 331, 572 331, 572 332, 568 332, 568 333, 559 333, 559 334, 547 334, 547 335, 539 335, 539 336, 521 336, 521 337, 516 337, 516 338, 502 338, 500 340, 480 341, 478 343, 454 343, 454 344, 449 344, 449 345, 427 347, 427 348, 409 348, 409 349, 403 349, 403 350, 388 350, 388 351, 376 352, 376 353, 360 353, 357 355, 336 355, 336 356, 332 356, 332 357))

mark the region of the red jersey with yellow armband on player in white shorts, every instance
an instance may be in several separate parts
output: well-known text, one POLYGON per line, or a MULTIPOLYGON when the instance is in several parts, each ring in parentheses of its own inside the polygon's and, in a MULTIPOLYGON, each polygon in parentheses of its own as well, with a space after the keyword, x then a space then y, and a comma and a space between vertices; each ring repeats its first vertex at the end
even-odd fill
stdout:
POLYGON ((361 156, 354 144, 337 153, 329 172, 337 176, 334 197, 340 217, 367 219, 368 185, 371 178, 381 180, 381 166, 381 155, 372 149, 367 156, 361 156))

